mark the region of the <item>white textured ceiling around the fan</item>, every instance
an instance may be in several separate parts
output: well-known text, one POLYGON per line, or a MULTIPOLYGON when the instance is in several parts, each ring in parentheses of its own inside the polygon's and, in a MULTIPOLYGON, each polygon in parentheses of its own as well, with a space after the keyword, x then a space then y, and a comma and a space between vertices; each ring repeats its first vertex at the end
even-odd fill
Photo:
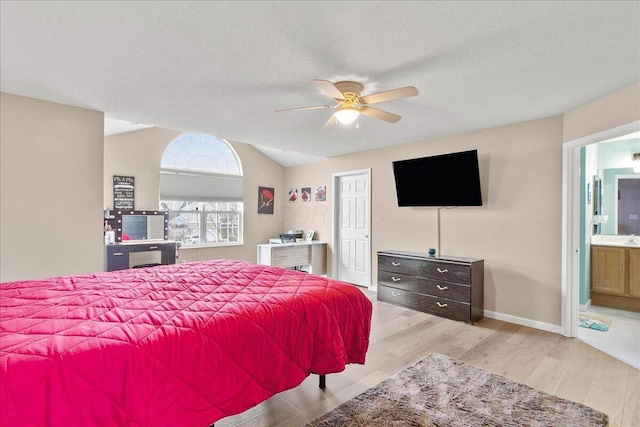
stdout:
MULTIPOLYGON (((3 92, 331 157, 562 114, 640 81, 640 2, 0 3, 3 92), (320 128, 313 79, 356 80, 389 124, 320 128)), ((286 151, 281 151, 286 150, 286 151)), ((275 155, 275 154, 274 154, 275 155)))

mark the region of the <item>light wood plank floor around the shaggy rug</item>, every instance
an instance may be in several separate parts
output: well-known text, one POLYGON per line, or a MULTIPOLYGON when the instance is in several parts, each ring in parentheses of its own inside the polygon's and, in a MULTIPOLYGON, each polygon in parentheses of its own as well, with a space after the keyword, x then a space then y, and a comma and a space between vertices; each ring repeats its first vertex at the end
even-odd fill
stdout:
POLYGON ((371 343, 364 365, 312 375, 216 427, 302 426, 429 353, 442 353, 589 405, 609 415, 611 426, 640 426, 640 370, 575 338, 484 319, 473 326, 373 301, 371 343))

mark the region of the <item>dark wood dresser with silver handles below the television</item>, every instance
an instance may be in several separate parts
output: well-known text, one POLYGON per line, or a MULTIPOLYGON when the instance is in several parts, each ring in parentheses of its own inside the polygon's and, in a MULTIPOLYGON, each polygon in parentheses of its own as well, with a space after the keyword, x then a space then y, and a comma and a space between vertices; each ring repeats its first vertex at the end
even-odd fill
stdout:
POLYGON ((484 260, 380 251, 378 301, 477 322, 484 317, 484 260))

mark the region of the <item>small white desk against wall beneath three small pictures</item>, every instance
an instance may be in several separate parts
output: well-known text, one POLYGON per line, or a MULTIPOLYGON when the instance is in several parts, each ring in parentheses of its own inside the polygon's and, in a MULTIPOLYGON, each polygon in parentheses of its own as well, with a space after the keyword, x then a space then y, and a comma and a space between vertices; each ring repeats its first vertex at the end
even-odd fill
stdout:
POLYGON ((327 242, 311 240, 258 245, 258 264, 284 268, 304 266, 309 273, 327 274, 327 242))

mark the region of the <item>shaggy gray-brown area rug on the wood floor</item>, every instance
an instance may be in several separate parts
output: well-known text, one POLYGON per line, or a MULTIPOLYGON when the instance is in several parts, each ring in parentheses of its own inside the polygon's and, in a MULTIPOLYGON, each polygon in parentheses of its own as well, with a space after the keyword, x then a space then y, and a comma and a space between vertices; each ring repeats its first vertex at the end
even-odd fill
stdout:
POLYGON ((432 353, 306 424, 606 426, 606 414, 432 353))

